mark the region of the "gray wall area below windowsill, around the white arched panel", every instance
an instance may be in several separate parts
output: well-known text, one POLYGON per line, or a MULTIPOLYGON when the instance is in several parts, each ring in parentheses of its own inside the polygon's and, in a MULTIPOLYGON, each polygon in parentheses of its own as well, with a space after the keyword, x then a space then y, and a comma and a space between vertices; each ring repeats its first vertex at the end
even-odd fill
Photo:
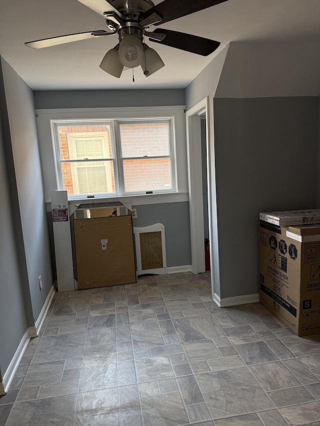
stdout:
POLYGON ((134 227, 162 223, 165 232, 167 267, 191 264, 189 203, 164 203, 132 206, 137 218, 134 227))

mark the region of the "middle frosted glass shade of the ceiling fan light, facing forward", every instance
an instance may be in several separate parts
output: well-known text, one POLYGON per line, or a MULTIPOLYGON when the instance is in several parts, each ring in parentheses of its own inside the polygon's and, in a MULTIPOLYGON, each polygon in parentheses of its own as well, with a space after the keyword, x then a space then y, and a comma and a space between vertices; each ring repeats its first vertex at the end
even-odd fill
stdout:
POLYGON ((141 40, 134 34, 124 35, 119 45, 118 60, 128 68, 139 66, 144 58, 141 40))

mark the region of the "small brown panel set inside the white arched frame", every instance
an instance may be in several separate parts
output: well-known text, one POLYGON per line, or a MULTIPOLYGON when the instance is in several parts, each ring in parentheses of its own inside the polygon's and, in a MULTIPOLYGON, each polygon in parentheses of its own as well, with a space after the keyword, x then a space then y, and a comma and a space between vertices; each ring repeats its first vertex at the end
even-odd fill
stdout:
POLYGON ((140 234, 141 269, 163 268, 161 232, 140 234))

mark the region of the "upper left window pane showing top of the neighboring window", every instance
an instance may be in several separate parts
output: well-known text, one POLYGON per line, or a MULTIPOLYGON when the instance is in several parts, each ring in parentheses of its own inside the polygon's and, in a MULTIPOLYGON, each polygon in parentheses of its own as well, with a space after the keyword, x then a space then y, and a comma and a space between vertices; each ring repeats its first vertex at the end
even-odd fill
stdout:
POLYGON ((113 158, 109 125, 57 126, 61 160, 113 158))

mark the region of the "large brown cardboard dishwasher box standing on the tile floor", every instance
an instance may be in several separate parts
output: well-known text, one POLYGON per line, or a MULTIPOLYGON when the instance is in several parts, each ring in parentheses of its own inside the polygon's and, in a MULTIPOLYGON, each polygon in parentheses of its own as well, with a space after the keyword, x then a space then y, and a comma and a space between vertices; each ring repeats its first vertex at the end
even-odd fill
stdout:
POLYGON ((320 333, 320 225, 260 221, 260 302, 298 336, 320 333))

